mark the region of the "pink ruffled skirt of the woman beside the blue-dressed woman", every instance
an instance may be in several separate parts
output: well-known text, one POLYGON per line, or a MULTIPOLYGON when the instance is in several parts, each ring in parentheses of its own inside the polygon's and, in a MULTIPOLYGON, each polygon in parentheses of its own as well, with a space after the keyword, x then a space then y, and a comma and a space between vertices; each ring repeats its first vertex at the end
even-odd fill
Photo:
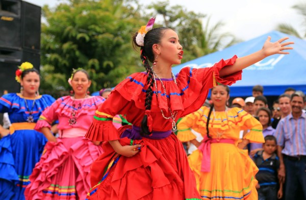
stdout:
POLYGON ((90 165, 103 153, 84 137, 48 142, 30 176, 26 199, 85 199, 90 189, 90 165))

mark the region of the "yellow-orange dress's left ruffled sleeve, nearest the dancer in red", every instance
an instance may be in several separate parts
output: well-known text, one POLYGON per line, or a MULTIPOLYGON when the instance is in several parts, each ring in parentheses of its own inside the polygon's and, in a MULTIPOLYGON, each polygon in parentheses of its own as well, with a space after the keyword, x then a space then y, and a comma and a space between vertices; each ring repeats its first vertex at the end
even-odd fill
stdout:
POLYGON ((203 115, 203 109, 205 109, 205 107, 202 107, 198 111, 185 116, 179 123, 177 123, 177 138, 181 142, 188 142, 196 139, 196 136, 191 132, 191 129, 195 129, 196 122, 203 115))

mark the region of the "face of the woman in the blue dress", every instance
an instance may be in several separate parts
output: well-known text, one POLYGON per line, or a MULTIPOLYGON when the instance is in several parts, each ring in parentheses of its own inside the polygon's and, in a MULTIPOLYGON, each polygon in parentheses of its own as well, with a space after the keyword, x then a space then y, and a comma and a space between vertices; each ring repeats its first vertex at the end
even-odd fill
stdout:
POLYGON ((40 85, 39 75, 35 71, 31 71, 20 80, 23 86, 23 95, 27 97, 35 96, 40 85))

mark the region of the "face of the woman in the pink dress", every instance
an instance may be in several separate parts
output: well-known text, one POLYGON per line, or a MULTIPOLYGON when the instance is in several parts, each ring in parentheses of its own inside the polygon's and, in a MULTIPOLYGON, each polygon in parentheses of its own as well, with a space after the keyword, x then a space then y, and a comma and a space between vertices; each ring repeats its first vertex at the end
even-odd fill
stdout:
POLYGON ((74 73, 71 80, 71 87, 75 94, 78 94, 79 96, 86 96, 90 84, 91 81, 88 80, 86 74, 83 71, 74 73))

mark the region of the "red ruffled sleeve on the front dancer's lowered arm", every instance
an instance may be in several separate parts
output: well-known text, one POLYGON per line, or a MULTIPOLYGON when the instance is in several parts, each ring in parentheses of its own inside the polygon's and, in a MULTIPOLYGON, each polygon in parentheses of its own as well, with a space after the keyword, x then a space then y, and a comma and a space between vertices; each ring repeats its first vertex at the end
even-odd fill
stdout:
POLYGON ((92 141, 118 140, 119 132, 114 127, 113 118, 116 114, 125 114, 130 103, 115 88, 104 104, 96 110, 85 137, 92 141))

